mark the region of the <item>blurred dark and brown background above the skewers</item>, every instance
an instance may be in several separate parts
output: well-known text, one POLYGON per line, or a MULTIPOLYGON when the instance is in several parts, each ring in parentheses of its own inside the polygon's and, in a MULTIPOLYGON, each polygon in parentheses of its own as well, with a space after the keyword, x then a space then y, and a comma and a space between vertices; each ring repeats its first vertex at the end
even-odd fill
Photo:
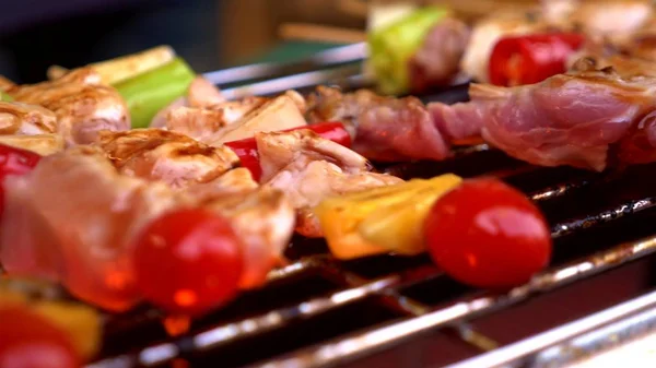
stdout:
MULTIPOLYGON (((199 72, 295 59, 364 40, 371 2, 2 0, 0 74, 34 83, 52 64, 73 68, 162 44, 173 46, 199 72)), ((537 1, 414 1, 426 2, 448 3, 462 16, 478 16, 537 1)))

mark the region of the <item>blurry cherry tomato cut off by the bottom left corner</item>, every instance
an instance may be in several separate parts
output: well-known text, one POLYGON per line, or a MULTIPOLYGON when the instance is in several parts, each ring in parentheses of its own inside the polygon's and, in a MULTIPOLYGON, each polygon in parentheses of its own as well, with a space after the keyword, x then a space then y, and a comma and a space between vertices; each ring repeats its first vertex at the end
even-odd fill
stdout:
POLYGON ((47 319, 22 307, 0 308, 0 368, 75 368, 80 360, 47 319))

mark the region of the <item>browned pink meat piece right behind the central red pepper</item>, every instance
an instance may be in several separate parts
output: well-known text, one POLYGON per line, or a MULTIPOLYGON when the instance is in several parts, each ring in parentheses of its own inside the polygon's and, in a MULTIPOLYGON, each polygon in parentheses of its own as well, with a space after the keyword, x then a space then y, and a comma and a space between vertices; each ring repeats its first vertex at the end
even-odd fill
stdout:
POLYGON ((374 161, 443 159, 448 144, 425 106, 414 97, 342 94, 318 87, 308 102, 311 121, 341 121, 355 135, 353 150, 374 161))

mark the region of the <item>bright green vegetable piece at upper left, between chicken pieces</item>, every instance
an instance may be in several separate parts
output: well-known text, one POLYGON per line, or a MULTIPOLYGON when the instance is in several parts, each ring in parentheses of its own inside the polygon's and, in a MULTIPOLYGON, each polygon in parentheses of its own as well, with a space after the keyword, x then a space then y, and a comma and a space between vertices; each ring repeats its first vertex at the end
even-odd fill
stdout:
POLYGON ((132 128, 147 128, 153 117, 176 98, 184 96, 196 74, 180 58, 116 83, 114 87, 126 99, 132 128))

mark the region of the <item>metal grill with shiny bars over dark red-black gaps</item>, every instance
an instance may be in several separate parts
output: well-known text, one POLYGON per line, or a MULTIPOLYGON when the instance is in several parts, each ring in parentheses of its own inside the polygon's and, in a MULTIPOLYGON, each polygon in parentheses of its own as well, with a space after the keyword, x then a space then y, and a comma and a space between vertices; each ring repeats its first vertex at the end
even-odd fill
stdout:
MULTIPOLYGON (((364 52, 351 45, 206 76, 231 97, 327 83, 354 88, 367 85, 358 64, 364 52)), ((466 91, 422 98, 465 100, 466 91)), ((186 335, 168 336, 163 316, 148 307, 107 316, 105 347, 87 367, 584 367, 577 364, 618 354, 624 363, 656 361, 656 165, 544 168, 479 144, 441 163, 380 168, 405 178, 503 178, 552 224, 551 266, 493 294, 454 282, 426 256, 340 262, 323 240, 298 238, 266 287, 195 321, 186 335)))

